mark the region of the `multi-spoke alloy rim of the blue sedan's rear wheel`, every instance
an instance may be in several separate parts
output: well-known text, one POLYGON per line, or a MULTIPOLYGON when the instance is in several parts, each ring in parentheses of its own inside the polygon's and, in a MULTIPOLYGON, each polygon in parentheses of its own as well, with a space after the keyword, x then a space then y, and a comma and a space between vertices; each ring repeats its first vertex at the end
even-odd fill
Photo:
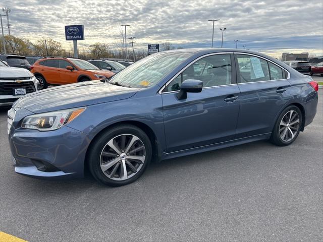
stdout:
POLYGON ((285 142, 289 142, 296 136, 299 129, 299 115, 296 111, 288 111, 279 125, 279 135, 285 142))

